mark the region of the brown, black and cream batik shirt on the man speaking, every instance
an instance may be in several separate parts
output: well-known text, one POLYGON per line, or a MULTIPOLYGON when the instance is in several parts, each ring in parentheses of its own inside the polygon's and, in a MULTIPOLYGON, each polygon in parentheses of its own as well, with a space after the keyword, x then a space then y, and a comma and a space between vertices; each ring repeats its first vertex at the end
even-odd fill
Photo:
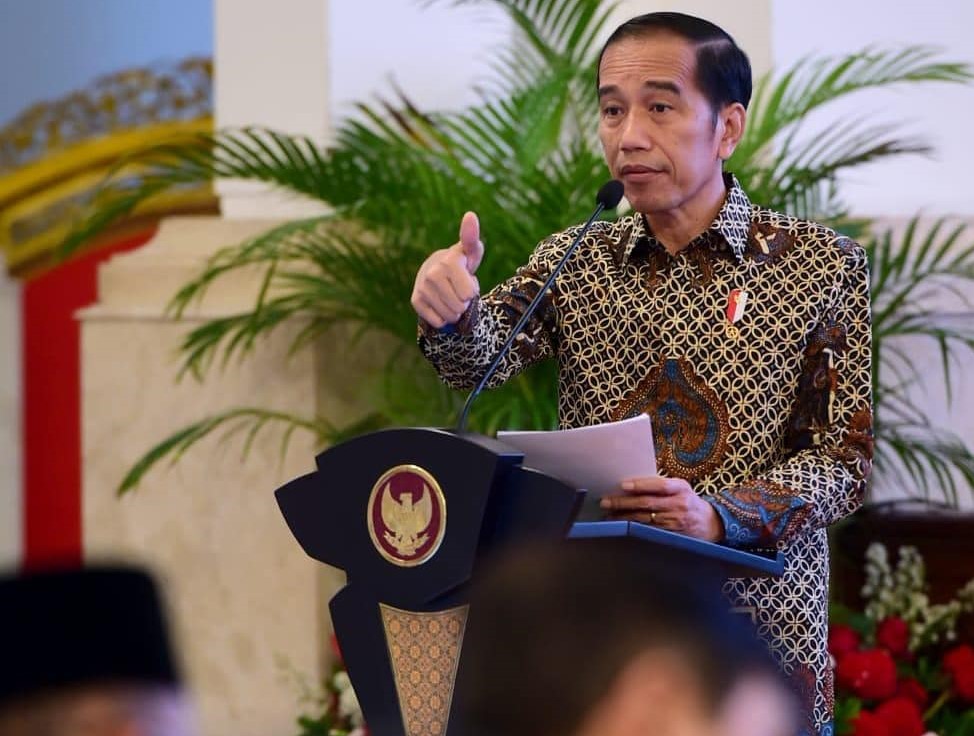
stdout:
MULTIPOLYGON (((796 683, 804 731, 830 733, 826 527, 860 505, 872 459, 866 256, 726 182, 676 255, 641 215, 595 223, 491 385, 555 357, 563 428, 648 414, 660 474, 713 505, 723 543, 784 553, 780 578, 725 592, 796 683)), ((421 328, 447 383, 476 384, 579 230, 544 240, 453 332, 421 328)))

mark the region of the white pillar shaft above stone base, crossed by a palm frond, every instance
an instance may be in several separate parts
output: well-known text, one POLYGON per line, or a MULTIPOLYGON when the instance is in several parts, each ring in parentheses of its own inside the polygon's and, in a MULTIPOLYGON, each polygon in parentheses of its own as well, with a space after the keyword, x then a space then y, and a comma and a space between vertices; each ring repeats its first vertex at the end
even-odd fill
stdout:
MULTIPOLYGON (((218 128, 257 125, 324 143, 330 134, 326 0, 214 0, 218 128)), ((322 206, 252 182, 218 182, 229 219, 294 218, 322 206)))

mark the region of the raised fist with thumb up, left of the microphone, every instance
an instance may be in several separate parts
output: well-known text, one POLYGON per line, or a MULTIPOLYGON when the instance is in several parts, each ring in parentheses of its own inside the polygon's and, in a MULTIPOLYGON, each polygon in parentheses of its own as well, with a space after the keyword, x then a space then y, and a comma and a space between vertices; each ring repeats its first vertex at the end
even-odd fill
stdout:
POLYGON ((467 212, 460 222, 460 240, 434 251, 419 267, 410 303, 420 319, 436 328, 456 324, 480 293, 474 273, 483 257, 480 221, 467 212))

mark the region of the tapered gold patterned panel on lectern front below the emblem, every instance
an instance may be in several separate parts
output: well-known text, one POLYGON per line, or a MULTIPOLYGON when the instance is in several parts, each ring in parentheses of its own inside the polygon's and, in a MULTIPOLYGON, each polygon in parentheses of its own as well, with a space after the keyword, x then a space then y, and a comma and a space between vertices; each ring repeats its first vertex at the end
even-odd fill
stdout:
POLYGON ((468 608, 415 613, 379 604, 407 736, 446 733, 468 608))

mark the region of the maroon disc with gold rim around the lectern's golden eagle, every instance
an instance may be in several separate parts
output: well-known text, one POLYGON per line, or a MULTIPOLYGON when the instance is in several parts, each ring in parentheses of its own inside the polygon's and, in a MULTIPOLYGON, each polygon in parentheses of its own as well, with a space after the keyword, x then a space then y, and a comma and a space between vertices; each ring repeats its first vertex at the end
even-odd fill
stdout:
POLYGON ((443 491, 436 479, 419 466, 400 465, 383 473, 372 489, 367 513, 372 542, 382 556, 394 564, 406 567, 421 565, 436 554, 440 543, 443 541, 446 523, 446 502, 443 498, 443 491), (388 491, 385 490, 387 483, 388 491), (412 493, 414 505, 419 503, 422 493, 430 498, 432 513, 430 514, 429 524, 422 532, 428 538, 411 555, 400 554, 385 538, 386 532, 393 533, 382 519, 382 499, 386 493, 392 496, 392 499, 397 503, 402 502, 404 493, 412 493))

